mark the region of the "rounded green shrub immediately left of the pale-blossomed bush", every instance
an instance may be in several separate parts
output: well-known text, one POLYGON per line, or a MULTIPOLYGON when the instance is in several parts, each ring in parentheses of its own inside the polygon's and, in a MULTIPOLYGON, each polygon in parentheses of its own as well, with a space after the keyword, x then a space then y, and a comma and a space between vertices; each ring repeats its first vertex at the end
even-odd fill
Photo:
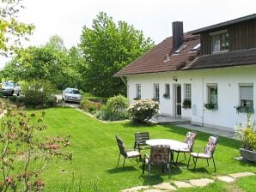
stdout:
POLYGON ((129 117, 126 111, 128 105, 128 99, 119 94, 118 96, 107 99, 107 104, 102 105, 101 111, 97 113, 96 117, 108 121, 126 119, 129 117))

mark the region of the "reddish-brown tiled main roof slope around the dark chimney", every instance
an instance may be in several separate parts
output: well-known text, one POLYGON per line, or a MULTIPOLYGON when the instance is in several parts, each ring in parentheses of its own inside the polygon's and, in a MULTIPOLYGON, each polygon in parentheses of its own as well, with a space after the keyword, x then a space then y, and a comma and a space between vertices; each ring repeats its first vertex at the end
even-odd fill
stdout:
POLYGON ((145 53, 142 57, 139 57, 124 69, 119 70, 114 76, 157 73, 182 69, 198 56, 198 52, 192 51, 192 48, 199 43, 199 35, 184 33, 184 42, 182 45, 186 45, 186 48, 180 51, 179 54, 174 54, 173 39, 172 37, 168 37, 159 45, 155 45, 154 48, 145 53), (167 55, 169 59, 167 59, 167 55))

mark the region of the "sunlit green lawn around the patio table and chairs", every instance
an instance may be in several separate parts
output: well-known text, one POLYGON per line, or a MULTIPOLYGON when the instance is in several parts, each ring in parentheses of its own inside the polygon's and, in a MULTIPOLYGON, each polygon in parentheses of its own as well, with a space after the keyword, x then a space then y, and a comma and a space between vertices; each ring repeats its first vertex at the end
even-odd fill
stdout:
MULTIPOLYGON (((234 157, 239 156, 239 141, 220 137, 216 147, 216 172, 210 161, 210 167, 204 159, 198 159, 196 171, 186 170, 186 165, 172 167, 171 177, 154 169, 149 181, 147 174, 142 175, 142 166, 135 160, 127 160, 125 168, 116 167, 119 149, 115 135, 119 135, 128 148, 133 147, 134 133, 149 131, 151 138, 169 138, 184 141, 187 129, 175 126, 134 126, 128 122, 101 123, 82 112, 71 108, 52 108, 46 110, 45 122, 48 125, 48 135, 72 135, 70 150, 74 155, 72 163, 53 162, 48 165, 43 177, 46 180, 46 191, 64 191, 65 185, 79 183, 82 175, 82 191, 119 191, 137 185, 171 182, 172 180, 188 180, 201 177, 212 178, 215 175, 226 175, 240 171, 256 173, 256 166, 239 162, 234 157), (61 170, 65 170, 62 172, 61 170), (75 181, 72 174, 75 172, 75 181)), ((198 132, 195 147, 204 147, 209 135, 198 132)), ((180 155, 180 160, 183 155, 180 155)), ((184 161, 186 163, 186 161, 184 161)), ((122 163, 121 163, 122 165, 122 163)), ((191 166, 192 169, 192 166, 191 166)), ((255 180, 255 177, 254 177, 255 180)), ((239 180, 235 187, 249 191, 247 179, 239 180)), ((232 187, 232 186, 231 186, 232 187)), ((229 191, 225 183, 214 183, 206 191, 229 191)), ((254 184, 255 189, 255 184, 254 184)), ((204 189, 196 188, 203 191, 204 189)), ((183 191, 183 190, 180 190, 183 191)))

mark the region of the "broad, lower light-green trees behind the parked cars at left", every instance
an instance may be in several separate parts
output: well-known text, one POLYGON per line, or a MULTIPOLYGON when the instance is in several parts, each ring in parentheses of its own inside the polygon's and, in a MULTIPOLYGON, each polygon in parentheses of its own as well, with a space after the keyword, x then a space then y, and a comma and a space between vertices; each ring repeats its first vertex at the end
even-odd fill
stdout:
MULTIPOLYGON (((81 88, 86 65, 76 47, 67 50, 63 40, 54 35, 46 45, 30 46, 16 52, 13 60, 1 71, 5 80, 51 81, 58 89, 81 88)), ((86 86, 85 86, 86 87, 86 86)))

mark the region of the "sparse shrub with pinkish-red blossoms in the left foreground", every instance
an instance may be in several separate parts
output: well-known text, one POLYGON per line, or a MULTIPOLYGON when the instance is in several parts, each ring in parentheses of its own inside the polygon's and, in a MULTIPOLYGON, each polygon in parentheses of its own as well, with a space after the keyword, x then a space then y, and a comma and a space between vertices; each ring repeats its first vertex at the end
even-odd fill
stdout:
POLYGON ((0 191, 42 191, 40 174, 52 159, 72 159, 66 147, 70 135, 51 138, 46 129, 44 111, 21 111, 0 100, 1 171, 0 191))

